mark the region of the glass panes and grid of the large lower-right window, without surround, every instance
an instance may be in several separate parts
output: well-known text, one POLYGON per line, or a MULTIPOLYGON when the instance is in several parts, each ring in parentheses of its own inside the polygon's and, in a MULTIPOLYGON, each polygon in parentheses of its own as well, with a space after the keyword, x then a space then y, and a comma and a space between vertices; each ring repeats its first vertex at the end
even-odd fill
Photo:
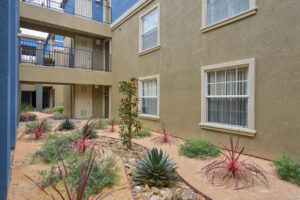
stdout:
POLYGON ((248 68, 206 73, 207 122, 247 127, 248 68))

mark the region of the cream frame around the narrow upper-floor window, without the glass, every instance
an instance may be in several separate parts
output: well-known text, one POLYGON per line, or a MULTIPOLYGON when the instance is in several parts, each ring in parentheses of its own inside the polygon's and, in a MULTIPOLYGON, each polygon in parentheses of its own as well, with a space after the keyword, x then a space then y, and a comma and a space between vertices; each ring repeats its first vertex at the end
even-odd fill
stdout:
POLYGON ((138 54, 144 55, 150 52, 153 52, 155 50, 160 49, 160 4, 155 4, 154 6, 152 6, 150 9, 148 9, 146 12, 144 12, 142 15, 139 16, 139 52, 138 54), (154 11, 155 9, 157 9, 158 12, 158 25, 157 25, 157 45, 155 45, 154 47, 151 47, 149 49, 145 49, 143 50, 143 41, 142 41, 142 32, 143 32, 143 17, 145 17, 146 15, 148 15, 149 13, 151 13, 152 11, 154 11))

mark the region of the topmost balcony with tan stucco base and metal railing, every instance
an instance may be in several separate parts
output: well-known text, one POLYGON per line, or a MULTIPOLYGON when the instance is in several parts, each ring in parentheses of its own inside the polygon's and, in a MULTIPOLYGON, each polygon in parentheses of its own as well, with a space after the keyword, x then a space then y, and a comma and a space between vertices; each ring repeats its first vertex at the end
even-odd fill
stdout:
POLYGON ((111 38, 110 8, 103 6, 101 1, 103 0, 100 3, 99 0, 20 1, 20 27, 69 37, 81 34, 111 38), (69 5, 71 2, 73 5, 69 5), (83 7, 83 2, 92 5, 83 7))

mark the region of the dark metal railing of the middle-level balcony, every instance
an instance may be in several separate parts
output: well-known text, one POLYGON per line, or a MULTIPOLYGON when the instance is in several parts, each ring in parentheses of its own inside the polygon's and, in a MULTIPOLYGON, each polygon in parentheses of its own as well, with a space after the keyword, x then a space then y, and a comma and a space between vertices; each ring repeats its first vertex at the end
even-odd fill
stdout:
POLYGON ((20 63, 111 72, 111 54, 20 40, 20 63))

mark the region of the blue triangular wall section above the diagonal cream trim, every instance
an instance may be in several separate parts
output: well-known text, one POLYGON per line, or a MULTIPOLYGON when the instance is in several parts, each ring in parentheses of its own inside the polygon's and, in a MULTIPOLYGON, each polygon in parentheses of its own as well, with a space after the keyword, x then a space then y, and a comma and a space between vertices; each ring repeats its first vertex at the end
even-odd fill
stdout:
POLYGON ((112 22, 123 15, 129 8, 131 8, 139 0, 111 0, 112 8, 112 22))

